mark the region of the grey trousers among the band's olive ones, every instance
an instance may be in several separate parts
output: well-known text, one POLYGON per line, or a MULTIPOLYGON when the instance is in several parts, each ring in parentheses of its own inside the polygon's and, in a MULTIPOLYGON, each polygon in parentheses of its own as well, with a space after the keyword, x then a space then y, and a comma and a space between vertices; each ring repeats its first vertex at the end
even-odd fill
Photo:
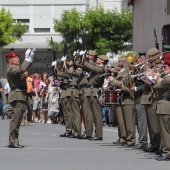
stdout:
POLYGON ((136 120, 137 120, 137 129, 138 129, 138 142, 139 144, 146 144, 148 140, 147 136, 147 118, 145 112, 145 106, 141 104, 135 104, 136 108, 136 120))

